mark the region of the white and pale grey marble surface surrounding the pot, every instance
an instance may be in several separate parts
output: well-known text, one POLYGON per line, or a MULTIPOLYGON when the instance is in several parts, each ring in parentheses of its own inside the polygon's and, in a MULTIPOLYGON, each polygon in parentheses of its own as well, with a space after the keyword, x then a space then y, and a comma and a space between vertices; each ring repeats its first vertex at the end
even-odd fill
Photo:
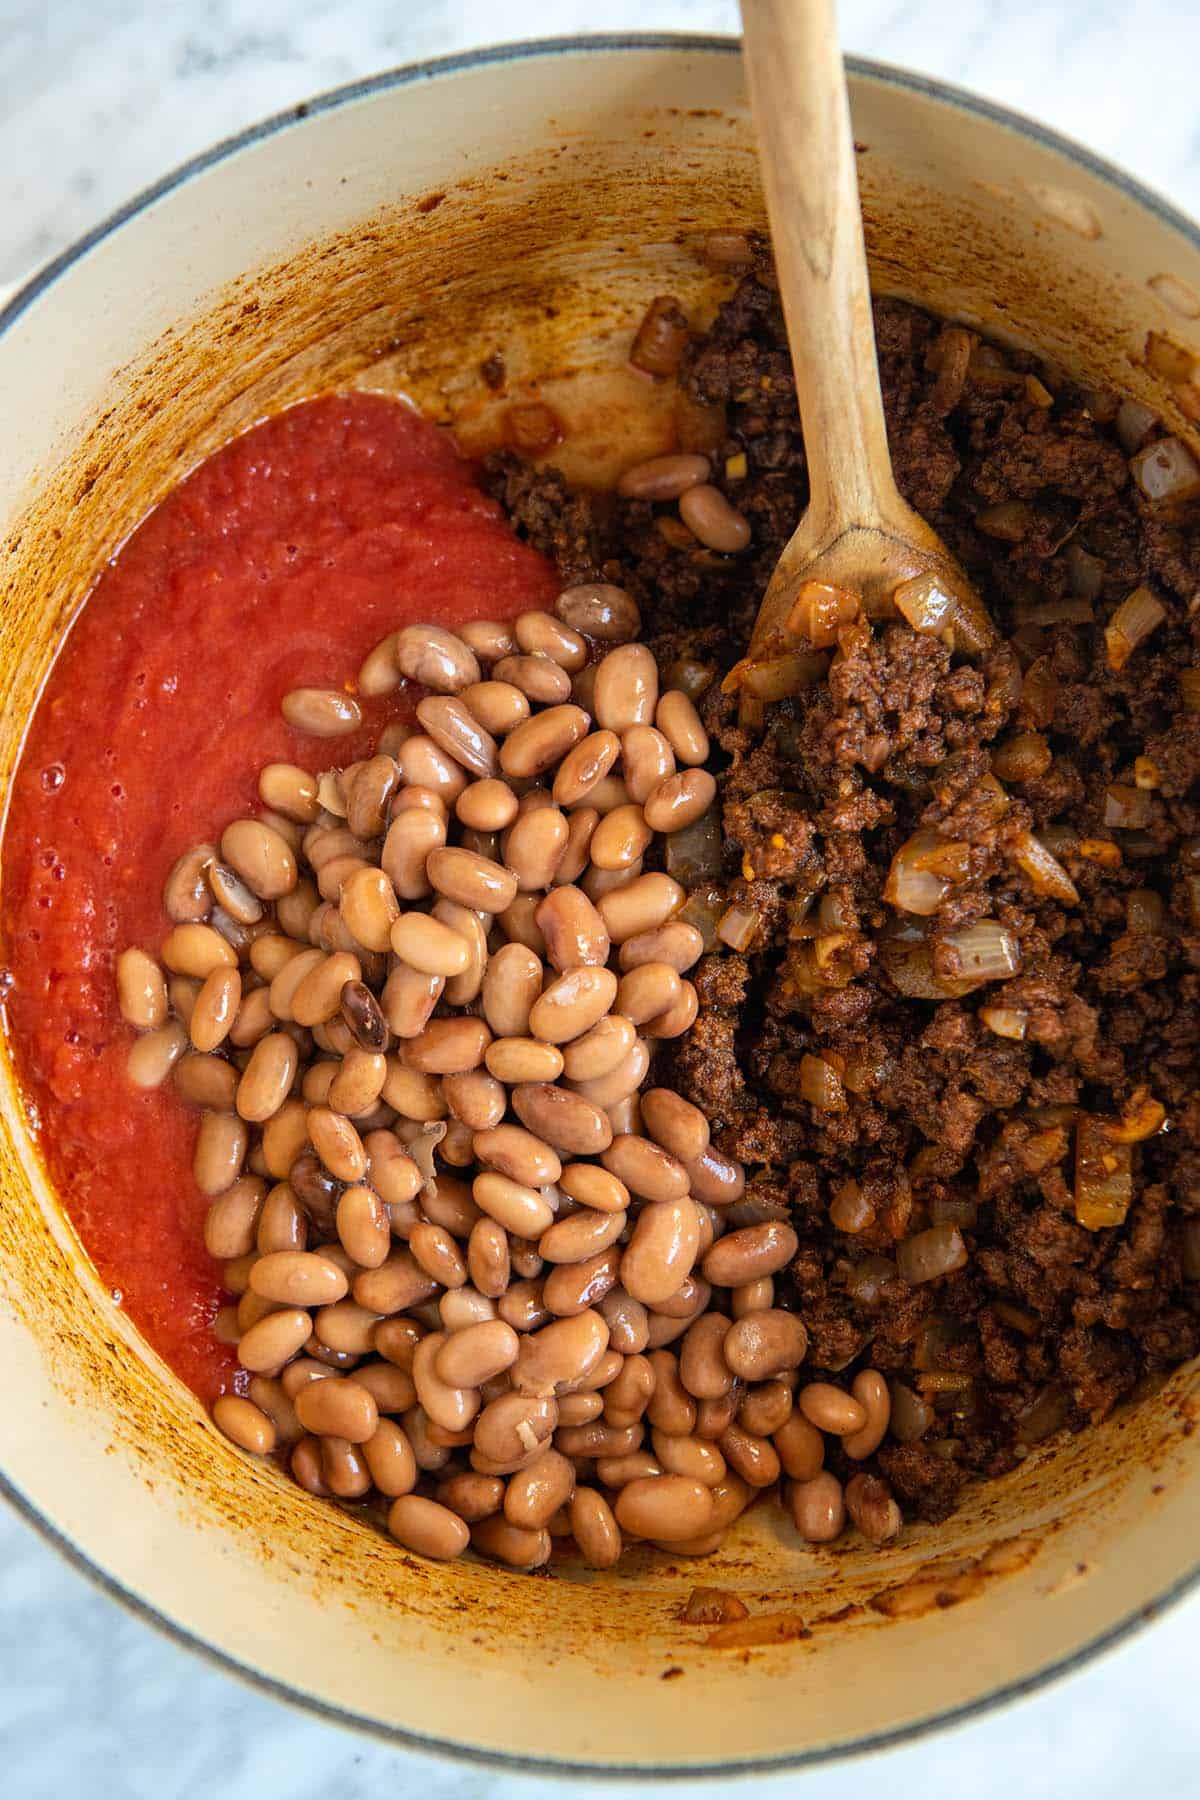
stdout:
MULTIPOLYGON (((844 0, 849 49, 975 88, 1200 211, 1195 0, 844 0), (1137 14, 1137 18, 1135 18, 1137 14)), ((468 45, 732 31, 729 0, 0 0, 0 284, 173 164, 322 88, 468 45)), ((1200 1598, 1083 1674, 936 1741, 756 1793, 1196 1793, 1200 1598)), ((155 1634, 0 1508, 0 1793, 50 1800, 534 1800, 549 1786, 295 1714, 155 1634)), ((741 1795, 750 1784, 723 1787, 741 1795)), ((604 1787, 604 1795, 633 1793, 604 1787)), ((644 1791, 644 1789, 640 1789, 644 1791)))

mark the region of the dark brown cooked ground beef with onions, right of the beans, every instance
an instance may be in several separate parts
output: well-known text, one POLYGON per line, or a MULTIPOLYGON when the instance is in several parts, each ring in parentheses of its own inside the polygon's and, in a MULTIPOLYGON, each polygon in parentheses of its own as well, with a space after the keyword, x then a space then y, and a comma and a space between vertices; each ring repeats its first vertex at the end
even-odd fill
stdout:
MULTIPOLYGON (((1006 643, 970 664, 903 623, 855 623, 828 677, 765 718, 739 716, 712 680, 700 704, 718 745, 725 900, 761 925, 747 956, 718 950, 693 972, 700 1015, 664 1075, 748 1165, 756 1217, 790 1211, 801 1251, 777 1287, 808 1325, 813 1373, 876 1366, 925 1397, 921 1442, 887 1442, 873 1467, 907 1512, 937 1519, 968 1476, 1103 1418, 1200 1350, 1200 1283, 1184 1274, 1184 1220, 1200 1213, 1200 720, 1178 693, 1180 666, 1200 661, 1200 509, 1146 504, 1103 423, 1106 396, 898 301, 874 311, 900 488, 1006 643), (1047 601, 1078 598, 1081 567, 1092 619, 1042 619, 1047 601), (1114 671, 1103 625, 1139 581, 1168 616, 1114 671), (999 787, 997 745, 1029 731, 1049 767, 999 787), (1137 758, 1155 781, 1141 788, 1146 817, 1114 826, 1105 790, 1135 785, 1137 758), (959 859, 936 913, 909 920, 934 979, 963 974, 955 932, 981 918, 1016 943, 1013 979, 941 1001, 905 990, 903 914, 883 887, 918 830, 959 859), (1078 904, 1040 896, 1020 871, 1029 830, 1078 904), (1135 920, 1130 896, 1144 907, 1146 891, 1153 911, 1135 920), (991 1008, 1024 1037, 997 1035, 991 1008), (831 1109, 802 1098, 806 1057, 842 1076, 831 1109), (1124 1224, 1085 1229, 1078 1112, 1117 1120, 1139 1091, 1169 1129, 1132 1147, 1124 1224), (855 1235, 828 1217, 847 1181, 871 1215, 855 1235), (959 1224, 968 1265, 912 1289, 896 1242, 937 1220, 959 1224)), ((687 652, 716 673, 745 652, 808 499, 766 261, 693 342, 680 380, 721 409, 714 481, 752 526, 743 554, 660 531, 671 508, 570 493, 513 457, 489 482, 567 581, 639 598, 664 670, 687 652)))

